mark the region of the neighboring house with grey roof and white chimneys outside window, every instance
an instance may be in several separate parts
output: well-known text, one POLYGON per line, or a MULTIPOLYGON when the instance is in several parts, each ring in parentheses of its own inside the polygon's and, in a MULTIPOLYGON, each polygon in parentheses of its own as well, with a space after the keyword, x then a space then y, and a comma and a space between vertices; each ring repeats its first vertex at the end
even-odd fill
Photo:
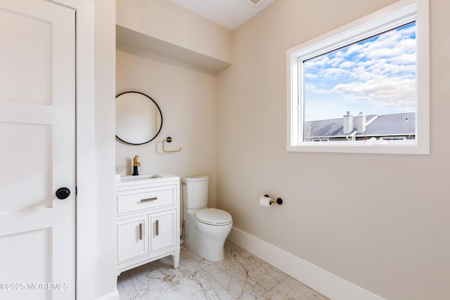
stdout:
POLYGON ((304 122, 304 141, 414 140, 416 113, 393 115, 344 115, 341 119, 304 122))

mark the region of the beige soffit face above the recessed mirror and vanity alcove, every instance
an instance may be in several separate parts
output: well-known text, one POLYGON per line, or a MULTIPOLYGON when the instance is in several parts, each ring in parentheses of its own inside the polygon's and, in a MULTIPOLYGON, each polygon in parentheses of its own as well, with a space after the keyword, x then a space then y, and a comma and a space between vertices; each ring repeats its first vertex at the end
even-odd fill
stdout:
POLYGON ((117 25, 231 61, 231 30, 168 0, 116 0, 117 25))

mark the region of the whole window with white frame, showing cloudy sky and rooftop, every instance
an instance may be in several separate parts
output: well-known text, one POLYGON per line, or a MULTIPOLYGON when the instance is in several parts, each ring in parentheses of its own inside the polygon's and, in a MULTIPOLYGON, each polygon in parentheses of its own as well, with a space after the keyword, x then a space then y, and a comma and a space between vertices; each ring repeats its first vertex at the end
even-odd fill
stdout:
POLYGON ((287 51, 288 151, 428 154, 428 0, 287 51))

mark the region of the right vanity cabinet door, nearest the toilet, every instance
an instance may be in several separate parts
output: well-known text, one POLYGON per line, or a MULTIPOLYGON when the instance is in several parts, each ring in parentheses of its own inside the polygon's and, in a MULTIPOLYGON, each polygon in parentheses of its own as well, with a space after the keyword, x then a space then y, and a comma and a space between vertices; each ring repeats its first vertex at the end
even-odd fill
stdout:
POLYGON ((150 214, 150 253, 176 246, 176 209, 150 214))

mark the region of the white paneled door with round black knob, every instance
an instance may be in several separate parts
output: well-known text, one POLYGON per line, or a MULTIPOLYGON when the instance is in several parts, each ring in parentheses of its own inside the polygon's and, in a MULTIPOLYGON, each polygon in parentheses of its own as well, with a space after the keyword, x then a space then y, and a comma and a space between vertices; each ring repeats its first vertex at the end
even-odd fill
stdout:
POLYGON ((75 11, 44 0, 0 0, 0 285, 75 299, 75 11))

